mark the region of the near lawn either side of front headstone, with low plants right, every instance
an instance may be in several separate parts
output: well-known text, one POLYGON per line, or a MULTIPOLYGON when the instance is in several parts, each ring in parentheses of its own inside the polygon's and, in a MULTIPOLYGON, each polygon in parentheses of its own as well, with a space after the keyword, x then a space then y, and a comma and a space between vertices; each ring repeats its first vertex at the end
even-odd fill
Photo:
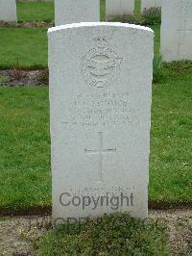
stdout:
MULTIPOLYGON (((192 64, 164 64, 153 89, 149 200, 192 203, 192 64)), ((51 205, 48 88, 0 89, 0 207, 51 205)))

